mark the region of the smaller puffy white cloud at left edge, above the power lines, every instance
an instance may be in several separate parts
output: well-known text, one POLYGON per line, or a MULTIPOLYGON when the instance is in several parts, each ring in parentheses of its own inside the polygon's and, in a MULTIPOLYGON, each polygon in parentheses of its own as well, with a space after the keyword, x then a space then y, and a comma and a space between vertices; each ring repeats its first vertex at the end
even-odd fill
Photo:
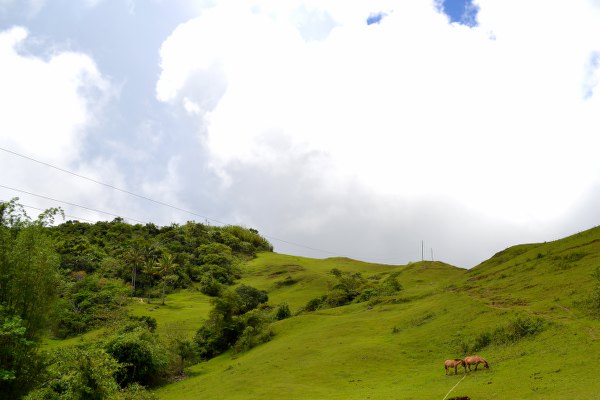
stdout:
POLYGON ((0 33, 0 143, 66 165, 78 157, 93 107, 109 84, 84 54, 60 52, 47 60, 27 54, 27 36, 20 27, 0 33))

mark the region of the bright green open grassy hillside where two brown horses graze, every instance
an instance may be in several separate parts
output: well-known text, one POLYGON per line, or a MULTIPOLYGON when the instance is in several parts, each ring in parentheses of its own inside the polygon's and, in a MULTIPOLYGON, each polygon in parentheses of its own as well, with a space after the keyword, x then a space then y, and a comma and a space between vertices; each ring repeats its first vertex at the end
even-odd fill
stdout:
MULTIPOLYGON (((294 313, 327 292, 332 268, 375 278, 399 272, 404 290, 276 322, 272 341, 193 366, 188 378, 156 393, 161 399, 442 399, 460 381, 449 397, 600 398, 600 322, 585 308, 599 258, 598 228, 511 247, 469 271, 437 262, 394 267, 261 253, 240 284, 266 290, 270 304, 287 302, 294 313), (465 351, 476 351, 491 368, 462 381, 462 373, 446 376, 444 360, 465 351)), ((180 321, 191 335, 209 310, 207 297, 191 291, 169 296, 167 304, 139 304, 133 312, 154 316, 159 327, 180 321)))

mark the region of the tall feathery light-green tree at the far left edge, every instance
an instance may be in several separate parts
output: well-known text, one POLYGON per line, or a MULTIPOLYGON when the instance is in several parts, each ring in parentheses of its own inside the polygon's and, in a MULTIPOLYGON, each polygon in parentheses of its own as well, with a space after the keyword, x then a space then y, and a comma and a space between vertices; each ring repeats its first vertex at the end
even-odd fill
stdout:
POLYGON ((37 342, 57 295, 58 256, 46 225, 50 209, 31 221, 17 199, 0 203, 0 393, 16 398, 41 376, 37 342))

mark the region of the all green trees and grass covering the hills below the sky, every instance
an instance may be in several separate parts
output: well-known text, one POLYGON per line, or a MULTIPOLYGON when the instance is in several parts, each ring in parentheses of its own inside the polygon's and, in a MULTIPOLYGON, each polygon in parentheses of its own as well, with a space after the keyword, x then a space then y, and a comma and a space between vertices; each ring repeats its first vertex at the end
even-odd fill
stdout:
POLYGON ((240 227, 55 225, 60 210, 31 220, 1 206, 0 398, 600 392, 582 357, 600 353, 600 228, 463 270, 275 254, 240 227), (473 353, 490 369, 445 375, 445 359, 473 353))

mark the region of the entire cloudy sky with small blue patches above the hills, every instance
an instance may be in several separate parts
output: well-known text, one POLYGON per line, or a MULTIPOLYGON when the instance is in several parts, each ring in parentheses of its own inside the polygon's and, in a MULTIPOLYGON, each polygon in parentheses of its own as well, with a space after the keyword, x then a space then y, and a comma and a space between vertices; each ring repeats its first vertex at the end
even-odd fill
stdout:
POLYGON ((600 224, 600 1, 0 0, 0 200, 471 268, 600 224))

